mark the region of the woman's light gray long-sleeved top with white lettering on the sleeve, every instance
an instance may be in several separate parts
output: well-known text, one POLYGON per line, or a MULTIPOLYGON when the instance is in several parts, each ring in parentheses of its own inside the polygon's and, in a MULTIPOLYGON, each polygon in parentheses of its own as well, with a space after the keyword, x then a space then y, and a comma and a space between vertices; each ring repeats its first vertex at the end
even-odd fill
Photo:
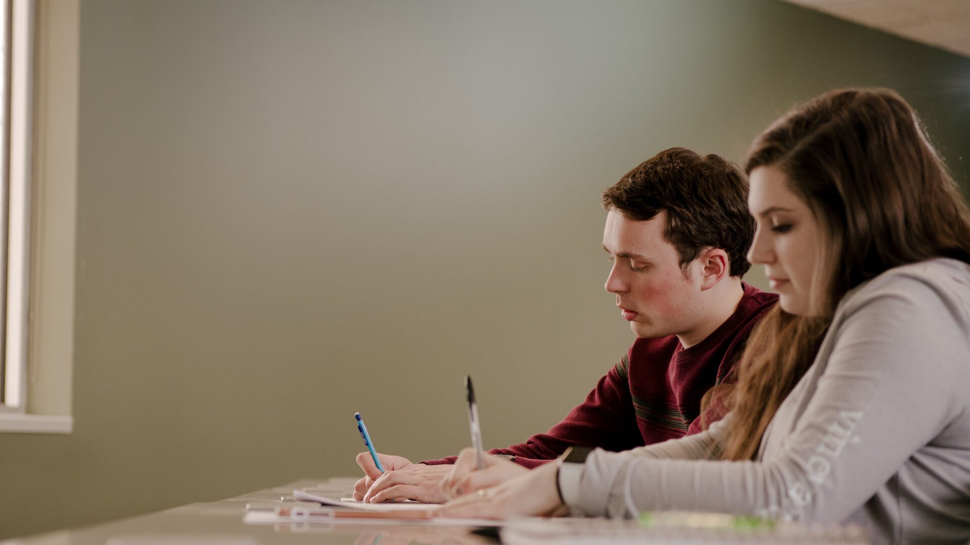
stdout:
POLYGON ((970 266, 934 259, 843 298, 756 461, 713 459, 726 419, 622 453, 594 451, 566 503, 587 515, 695 510, 857 522, 877 542, 970 538, 970 266))

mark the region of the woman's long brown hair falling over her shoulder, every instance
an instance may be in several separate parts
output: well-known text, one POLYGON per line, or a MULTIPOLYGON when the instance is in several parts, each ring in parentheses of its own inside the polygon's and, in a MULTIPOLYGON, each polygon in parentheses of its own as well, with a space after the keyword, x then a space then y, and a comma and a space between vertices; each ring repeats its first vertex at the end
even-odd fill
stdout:
MULTIPOLYGON (((752 460, 782 401, 811 367, 832 314, 852 288, 934 257, 970 263, 970 210, 916 112, 889 89, 825 93, 755 139, 745 170, 781 170, 826 235, 812 317, 776 306, 752 333, 727 392, 725 460, 752 460)), ((710 399, 711 396, 708 396, 710 399)))

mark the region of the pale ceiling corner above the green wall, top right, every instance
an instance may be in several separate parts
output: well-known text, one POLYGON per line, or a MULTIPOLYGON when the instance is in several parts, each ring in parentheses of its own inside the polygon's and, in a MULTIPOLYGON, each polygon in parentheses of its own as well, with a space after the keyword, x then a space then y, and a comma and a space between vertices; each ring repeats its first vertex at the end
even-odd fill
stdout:
POLYGON ((970 57, 970 0, 785 0, 970 57))

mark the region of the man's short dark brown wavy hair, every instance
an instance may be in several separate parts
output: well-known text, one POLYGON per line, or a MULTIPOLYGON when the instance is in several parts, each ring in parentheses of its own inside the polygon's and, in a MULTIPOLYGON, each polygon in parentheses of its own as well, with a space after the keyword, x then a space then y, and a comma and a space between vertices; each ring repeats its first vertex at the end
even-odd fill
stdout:
POLYGON ((684 147, 664 149, 603 191, 603 208, 646 221, 666 210, 663 237, 687 265, 708 248, 727 252, 731 276, 751 264, 745 257, 755 238, 748 213, 748 179, 720 155, 700 156, 684 147))

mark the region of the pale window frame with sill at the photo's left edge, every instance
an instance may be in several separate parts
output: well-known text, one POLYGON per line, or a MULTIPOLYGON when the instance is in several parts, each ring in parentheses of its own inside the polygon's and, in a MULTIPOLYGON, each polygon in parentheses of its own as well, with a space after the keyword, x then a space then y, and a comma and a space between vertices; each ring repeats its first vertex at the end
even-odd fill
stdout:
POLYGON ((81 6, 9 1, 7 112, 17 138, 6 171, 13 267, 2 279, 10 297, 0 433, 71 433, 81 6))

